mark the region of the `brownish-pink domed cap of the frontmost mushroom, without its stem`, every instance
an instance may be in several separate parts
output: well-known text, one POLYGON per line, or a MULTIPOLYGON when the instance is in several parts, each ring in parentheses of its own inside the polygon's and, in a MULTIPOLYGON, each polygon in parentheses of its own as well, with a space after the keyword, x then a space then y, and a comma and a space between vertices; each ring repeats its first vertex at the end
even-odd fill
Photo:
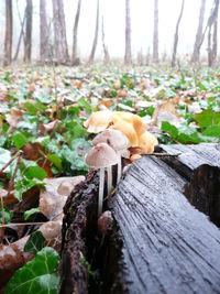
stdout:
POLYGON ((118 164, 119 156, 107 143, 99 143, 87 152, 86 163, 94 168, 108 167, 118 164))

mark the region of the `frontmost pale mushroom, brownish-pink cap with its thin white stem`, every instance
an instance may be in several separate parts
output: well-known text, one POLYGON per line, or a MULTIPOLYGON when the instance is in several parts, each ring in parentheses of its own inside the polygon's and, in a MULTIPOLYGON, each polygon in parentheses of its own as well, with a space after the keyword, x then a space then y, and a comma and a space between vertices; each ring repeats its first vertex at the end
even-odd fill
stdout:
MULTIPOLYGON (((99 175, 99 198, 98 198, 98 217, 102 213, 103 190, 105 190, 105 168, 118 164, 119 156, 116 151, 106 143, 99 143, 88 151, 86 154, 86 163, 92 168, 100 168, 99 175)), ((108 187, 109 187, 108 173, 108 187)))

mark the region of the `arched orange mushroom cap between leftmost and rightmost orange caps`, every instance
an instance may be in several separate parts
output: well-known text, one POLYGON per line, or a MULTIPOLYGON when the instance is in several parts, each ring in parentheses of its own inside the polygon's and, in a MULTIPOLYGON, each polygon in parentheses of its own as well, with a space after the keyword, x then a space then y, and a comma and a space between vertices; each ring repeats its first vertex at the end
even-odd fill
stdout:
POLYGON ((124 111, 116 111, 112 115, 113 117, 119 117, 123 121, 132 123, 134 130, 136 131, 138 137, 143 134, 146 130, 146 126, 144 121, 138 115, 133 115, 131 112, 124 112, 124 111))

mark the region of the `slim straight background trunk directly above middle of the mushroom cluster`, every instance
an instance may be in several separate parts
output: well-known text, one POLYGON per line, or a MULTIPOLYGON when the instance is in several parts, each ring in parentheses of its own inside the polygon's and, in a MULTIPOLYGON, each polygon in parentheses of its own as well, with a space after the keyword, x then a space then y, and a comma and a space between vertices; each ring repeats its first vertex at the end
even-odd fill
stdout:
POLYGON ((131 15, 130 15, 130 0, 125 0, 125 55, 124 63, 127 65, 132 63, 131 57, 131 15))

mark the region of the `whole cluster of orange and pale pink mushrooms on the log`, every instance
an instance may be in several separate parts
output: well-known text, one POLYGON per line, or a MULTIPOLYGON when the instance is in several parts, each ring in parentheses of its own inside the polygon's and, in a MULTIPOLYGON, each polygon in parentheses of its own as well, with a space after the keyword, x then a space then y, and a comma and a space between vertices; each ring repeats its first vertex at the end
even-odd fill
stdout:
POLYGON ((117 184, 121 178, 121 157, 138 159, 151 154, 157 145, 156 138, 146 131, 143 120, 131 112, 97 111, 84 124, 88 132, 98 133, 92 140, 94 148, 86 154, 86 163, 91 168, 100 168, 98 216, 102 213, 105 171, 107 170, 107 192, 111 194, 112 165, 118 164, 117 184), (138 155, 138 156, 136 156, 138 155))

